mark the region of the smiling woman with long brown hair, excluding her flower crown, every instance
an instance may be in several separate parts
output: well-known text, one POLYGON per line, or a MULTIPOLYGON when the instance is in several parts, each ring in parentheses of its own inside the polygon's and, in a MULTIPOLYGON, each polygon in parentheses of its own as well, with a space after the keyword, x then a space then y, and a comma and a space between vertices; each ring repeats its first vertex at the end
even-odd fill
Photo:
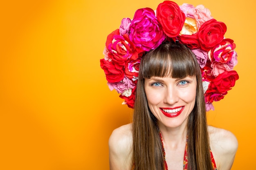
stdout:
POLYGON ((133 123, 109 139, 110 170, 230 170, 237 147, 231 132, 207 126, 189 48, 164 42, 142 57, 133 123))

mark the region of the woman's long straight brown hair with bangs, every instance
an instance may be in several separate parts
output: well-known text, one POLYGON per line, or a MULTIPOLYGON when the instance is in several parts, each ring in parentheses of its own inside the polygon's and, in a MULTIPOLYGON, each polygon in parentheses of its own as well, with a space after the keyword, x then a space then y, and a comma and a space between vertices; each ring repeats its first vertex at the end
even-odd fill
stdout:
POLYGON ((164 170, 164 156, 157 119, 148 108, 144 79, 152 76, 184 78, 196 76, 195 106, 189 115, 188 168, 212 170, 207 119, 200 67, 195 55, 179 42, 164 42, 142 57, 133 114, 132 154, 134 170, 164 170))

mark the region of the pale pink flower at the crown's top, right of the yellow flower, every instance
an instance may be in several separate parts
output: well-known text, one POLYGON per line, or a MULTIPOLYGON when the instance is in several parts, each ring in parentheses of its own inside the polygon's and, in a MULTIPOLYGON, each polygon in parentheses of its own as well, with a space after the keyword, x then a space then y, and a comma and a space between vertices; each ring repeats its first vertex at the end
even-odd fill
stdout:
POLYGON ((202 26, 204 22, 213 19, 213 17, 211 16, 211 11, 207 8, 204 8, 203 5, 198 5, 197 7, 195 7, 194 16, 198 29, 202 26))

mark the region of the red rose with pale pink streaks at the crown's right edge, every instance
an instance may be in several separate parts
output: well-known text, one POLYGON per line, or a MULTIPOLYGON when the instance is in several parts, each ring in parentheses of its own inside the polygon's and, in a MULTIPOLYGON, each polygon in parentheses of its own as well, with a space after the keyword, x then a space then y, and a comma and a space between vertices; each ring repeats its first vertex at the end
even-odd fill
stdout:
POLYGON ((233 40, 224 39, 209 51, 209 59, 212 61, 212 58, 214 58, 216 62, 227 63, 232 59, 235 48, 236 44, 233 40))

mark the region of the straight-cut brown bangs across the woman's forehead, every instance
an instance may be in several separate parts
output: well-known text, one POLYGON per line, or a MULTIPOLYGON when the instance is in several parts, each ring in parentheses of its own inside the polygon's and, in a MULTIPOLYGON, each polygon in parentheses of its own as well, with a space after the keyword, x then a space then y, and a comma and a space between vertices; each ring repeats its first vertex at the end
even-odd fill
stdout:
POLYGON ((184 78, 197 74, 198 63, 185 46, 162 44, 164 48, 149 51, 141 60, 141 78, 184 78), (196 63, 195 63, 196 62, 196 63))

